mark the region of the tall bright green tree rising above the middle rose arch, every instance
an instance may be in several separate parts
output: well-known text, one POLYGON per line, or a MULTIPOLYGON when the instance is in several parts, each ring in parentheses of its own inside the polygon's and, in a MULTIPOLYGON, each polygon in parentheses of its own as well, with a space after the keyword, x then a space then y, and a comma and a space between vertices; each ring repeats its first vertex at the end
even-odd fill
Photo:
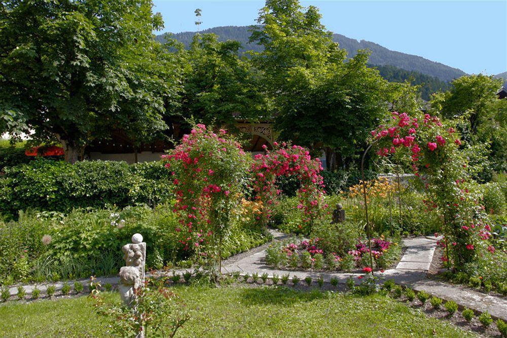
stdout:
POLYGON ((253 62, 265 72, 281 138, 324 149, 335 169, 364 148, 368 130, 387 112, 390 87, 367 67, 368 51, 347 59, 320 18, 297 0, 268 0, 252 28, 251 41, 264 46, 253 62))

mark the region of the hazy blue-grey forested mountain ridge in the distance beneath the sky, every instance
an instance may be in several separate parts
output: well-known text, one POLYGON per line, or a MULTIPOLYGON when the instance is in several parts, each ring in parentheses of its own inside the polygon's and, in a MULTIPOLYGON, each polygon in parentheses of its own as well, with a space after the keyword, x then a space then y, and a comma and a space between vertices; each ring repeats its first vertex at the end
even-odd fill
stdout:
MULTIPOLYGON (((249 29, 248 26, 223 26, 209 28, 201 32, 215 33, 219 36, 220 41, 239 41, 243 45, 241 52, 246 50, 260 51, 262 49, 261 46, 248 43, 248 38, 250 36, 249 29)), ((173 34, 173 37, 184 43, 185 46, 189 46, 194 34, 195 32, 181 32, 173 34)), ((164 36, 157 36, 157 40, 163 42, 164 36)), ((350 57, 354 56, 358 49, 371 50, 370 63, 374 65, 396 66, 405 70, 416 71, 431 77, 436 77, 445 82, 465 75, 465 72, 460 69, 452 68, 420 56, 391 51, 373 42, 365 40, 357 41, 341 34, 333 34, 333 41, 338 42, 341 48, 345 48, 350 57)))

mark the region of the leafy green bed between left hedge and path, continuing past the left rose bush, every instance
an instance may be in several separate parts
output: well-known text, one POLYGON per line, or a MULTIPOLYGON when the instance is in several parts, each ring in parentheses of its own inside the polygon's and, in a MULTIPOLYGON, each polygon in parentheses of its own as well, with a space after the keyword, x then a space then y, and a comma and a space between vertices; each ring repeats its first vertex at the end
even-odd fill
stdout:
MULTIPOLYGON (((116 275, 124 261, 121 247, 140 233, 150 250, 147 267, 162 268, 188 258, 177 246, 179 223, 170 205, 123 210, 75 209, 55 212, 21 212, 18 221, 0 220, 0 283, 29 279, 86 278, 116 275)), ((224 243, 227 254, 247 250, 269 239, 264 232, 245 229, 240 222, 224 243)))

